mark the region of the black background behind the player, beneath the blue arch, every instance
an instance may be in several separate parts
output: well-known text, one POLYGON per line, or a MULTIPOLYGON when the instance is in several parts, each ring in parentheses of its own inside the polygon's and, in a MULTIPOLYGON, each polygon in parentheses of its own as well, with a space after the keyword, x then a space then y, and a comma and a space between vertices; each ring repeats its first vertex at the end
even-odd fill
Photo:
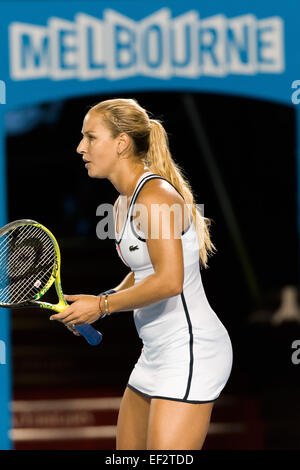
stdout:
MULTIPOLYGON (((183 94, 121 96, 136 98, 163 121, 173 158, 212 219, 218 252, 201 272, 209 303, 233 344, 233 369, 224 394, 257 400, 264 448, 299 448, 300 365, 292 364, 291 344, 299 339, 300 326, 286 322, 273 327, 269 322, 280 305, 281 289, 299 283, 294 108, 192 95, 251 263, 258 286, 254 297, 183 94)), ((54 232, 68 294, 98 294, 128 272, 114 241, 96 237, 96 209, 113 204, 118 193, 108 180, 90 179, 76 154, 89 106, 114 97, 118 95, 70 99, 7 114, 9 220, 34 219, 54 232)), ((14 393, 114 387, 121 394, 142 346, 132 312, 96 324, 103 334, 98 348, 48 318, 48 312, 34 309, 12 314, 14 393)))

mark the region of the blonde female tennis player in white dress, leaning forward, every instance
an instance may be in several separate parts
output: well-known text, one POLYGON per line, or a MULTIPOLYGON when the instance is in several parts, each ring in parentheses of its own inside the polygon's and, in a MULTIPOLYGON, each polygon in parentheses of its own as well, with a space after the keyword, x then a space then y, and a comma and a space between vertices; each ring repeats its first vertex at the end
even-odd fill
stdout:
POLYGON ((162 124, 135 100, 93 106, 82 134, 77 151, 88 175, 107 178, 120 194, 115 244, 130 272, 100 297, 66 296, 72 304, 51 318, 72 329, 133 310, 143 348, 121 401, 117 449, 201 449, 232 367, 228 332, 201 281, 215 250, 210 219, 172 159, 162 124))

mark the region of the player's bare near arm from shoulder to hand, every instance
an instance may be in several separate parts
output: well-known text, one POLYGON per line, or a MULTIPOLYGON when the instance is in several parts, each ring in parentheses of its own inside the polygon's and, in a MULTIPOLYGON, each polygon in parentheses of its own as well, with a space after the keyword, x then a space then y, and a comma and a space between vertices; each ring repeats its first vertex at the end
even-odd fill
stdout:
MULTIPOLYGON (((180 224, 183 216, 177 220, 176 214, 170 212, 170 207, 173 204, 179 204, 184 211, 184 206, 177 192, 162 183, 159 180, 148 182, 139 195, 139 203, 146 208, 143 216, 140 217, 141 230, 148 234, 146 243, 154 273, 131 287, 120 289, 117 293, 109 295, 111 313, 145 307, 182 292, 184 264, 182 242, 178 231, 181 230, 180 224), (151 217, 152 204, 162 205, 160 217, 151 217), (169 237, 163 238, 166 221, 169 221, 169 237), (153 237, 152 233, 158 236, 153 237)), ((76 325, 93 323, 99 318, 99 298, 86 295, 66 298, 73 302, 72 305, 64 312, 52 315, 51 318, 76 325)), ((101 310, 104 312, 104 298, 101 299, 101 310)))

